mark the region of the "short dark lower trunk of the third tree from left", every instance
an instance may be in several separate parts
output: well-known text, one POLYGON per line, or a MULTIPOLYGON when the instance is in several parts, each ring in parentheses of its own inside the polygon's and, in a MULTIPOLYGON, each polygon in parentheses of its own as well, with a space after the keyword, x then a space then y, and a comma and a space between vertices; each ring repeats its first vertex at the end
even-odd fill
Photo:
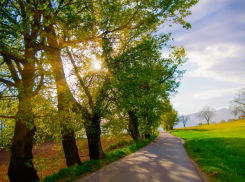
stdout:
POLYGON ((100 116, 98 114, 94 114, 90 120, 86 121, 85 128, 88 138, 90 159, 98 160, 105 158, 106 156, 103 152, 100 140, 100 116))

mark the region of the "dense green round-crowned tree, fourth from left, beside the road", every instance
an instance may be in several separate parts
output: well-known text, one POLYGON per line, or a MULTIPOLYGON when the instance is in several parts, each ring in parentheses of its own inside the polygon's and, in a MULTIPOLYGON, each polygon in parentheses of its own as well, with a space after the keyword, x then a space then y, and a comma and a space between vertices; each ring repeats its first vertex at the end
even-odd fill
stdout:
POLYGON ((121 112, 128 113, 128 131, 134 140, 140 135, 149 137, 160 125, 160 113, 165 110, 168 96, 179 85, 176 80, 182 72, 177 68, 185 62, 185 52, 182 48, 174 49, 171 59, 161 58, 159 50, 167 40, 166 35, 149 36, 125 51, 115 71, 113 69, 116 72, 112 82, 115 105, 121 112))

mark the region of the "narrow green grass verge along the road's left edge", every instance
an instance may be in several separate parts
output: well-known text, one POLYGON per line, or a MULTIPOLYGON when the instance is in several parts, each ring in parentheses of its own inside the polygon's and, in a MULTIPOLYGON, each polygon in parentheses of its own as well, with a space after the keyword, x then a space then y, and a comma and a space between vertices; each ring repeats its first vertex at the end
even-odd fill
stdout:
POLYGON ((111 151, 115 148, 121 148, 122 146, 124 146, 124 148, 116 149, 113 150, 112 152, 106 153, 105 159, 89 160, 87 162, 84 162, 82 165, 63 168, 58 173, 45 177, 43 181, 44 182, 56 182, 56 181, 72 182, 78 179, 82 174, 96 171, 111 162, 114 162, 122 157, 125 157, 139 150, 140 148, 149 144, 157 136, 158 136, 158 132, 148 139, 140 139, 137 142, 119 141, 118 143, 109 146, 105 151, 111 151))

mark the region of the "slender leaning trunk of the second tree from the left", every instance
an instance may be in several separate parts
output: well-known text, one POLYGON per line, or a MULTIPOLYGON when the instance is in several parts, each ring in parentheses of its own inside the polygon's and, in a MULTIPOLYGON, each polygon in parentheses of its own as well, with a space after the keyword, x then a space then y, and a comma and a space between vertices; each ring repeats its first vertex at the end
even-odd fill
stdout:
MULTIPOLYGON (((48 43, 50 47, 57 48, 52 51, 49 51, 51 57, 51 66, 53 69, 57 93, 58 93, 58 112, 61 117, 63 117, 66 113, 68 113, 69 103, 71 99, 73 99, 73 95, 69 90, 69 86, 66 82, 64 68, 61 59, 61 50, 58 49, 58 40, 56 37, 56 33, 52 26, 46 27, 46 31, 50 33, 48 37, 48 43)), ((68 128, 66 123, 69 123, 69 118, 64 117, 61 120, 62 127, 62 137, 63 137, 63 150, 65 153, 66 164, 67 166, 73 166, 75 164, 81 164, 80 157, 78 155, 78 148, 76 145, 76 139, 74 135, 74 130, 72 128, 68 128)))

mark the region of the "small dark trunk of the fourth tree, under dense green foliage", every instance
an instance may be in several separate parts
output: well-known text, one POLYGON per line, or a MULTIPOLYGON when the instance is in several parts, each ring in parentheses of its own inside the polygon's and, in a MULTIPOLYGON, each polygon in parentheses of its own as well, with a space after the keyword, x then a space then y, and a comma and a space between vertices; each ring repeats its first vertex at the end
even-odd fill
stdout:
POLYGON ((130 135, 134 140, 138 140, 139 139, 138 118, 135 115, 135 111, 128 111, 128 115, 129 115, 128 129, 130 135))

